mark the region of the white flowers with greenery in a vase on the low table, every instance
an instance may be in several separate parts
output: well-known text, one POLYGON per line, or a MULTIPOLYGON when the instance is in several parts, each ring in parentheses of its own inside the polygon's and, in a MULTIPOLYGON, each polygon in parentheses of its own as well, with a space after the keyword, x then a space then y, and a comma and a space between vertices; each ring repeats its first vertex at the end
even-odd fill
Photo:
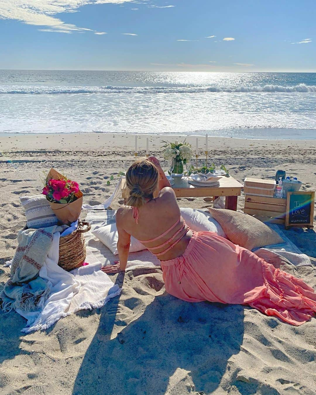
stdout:
POLYGON ((175 160, 173 173, 182 174, 183 165, 186 164, 187 161, 189 162, 192 158, 191 145, 186 141, 184 141, 184 143, 179 143, 178 140, 174 143, 170 143, 168 141, 162 141, 162 143, 165 143, 165 145, 163 145, 164 159, 168 161, 170 159, 175 160))

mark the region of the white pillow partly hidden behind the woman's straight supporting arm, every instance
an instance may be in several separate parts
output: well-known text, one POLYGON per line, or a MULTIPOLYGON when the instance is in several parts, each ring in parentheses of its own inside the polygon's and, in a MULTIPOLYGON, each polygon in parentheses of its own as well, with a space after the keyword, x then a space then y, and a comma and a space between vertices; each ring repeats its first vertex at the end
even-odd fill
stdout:
MULTIPOLYGON (((109 248, 114 255, 119 254, 117 251, 117 241, 119 240, 119 233, 117 232, 116 224, 105 225, 101 228, 92 231, 92 234, 109 248)), ((131 236, 130 252, 137 252, 146 250, 146 248, 131 236)))

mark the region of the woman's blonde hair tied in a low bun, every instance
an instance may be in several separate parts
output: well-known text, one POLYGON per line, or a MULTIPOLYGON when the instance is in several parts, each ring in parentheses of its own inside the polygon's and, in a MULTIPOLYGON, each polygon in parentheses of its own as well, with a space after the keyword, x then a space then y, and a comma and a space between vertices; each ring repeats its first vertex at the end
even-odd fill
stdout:
POLYGON ((147 199, 153 199, 158 189, 158 169, 148 159, 139 159, 126 172, 127 206, 141 207, 147 199))

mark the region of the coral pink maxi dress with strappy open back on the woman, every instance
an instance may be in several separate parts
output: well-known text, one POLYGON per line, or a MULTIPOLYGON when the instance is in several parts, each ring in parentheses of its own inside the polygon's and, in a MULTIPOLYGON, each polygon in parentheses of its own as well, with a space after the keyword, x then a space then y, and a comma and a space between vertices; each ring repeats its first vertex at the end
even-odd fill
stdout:
MULTIPOLYGON (((134 209, 133 215, 138 222, 138 210, 134 209)), ((158 241, 180 222, 181 218, 162 235, 140 242, 158 241)), ((148 249, 157 257, 165 254, 189 230, 186 228, 186 232, 177 239, 185 226, 183 222, 165 243, 148 249), (166 250, 158 254, 154 252, 166 245, 169 245, 166 250)), ((207 300, 248 305, 296 326, 314 316, 316 293, 303 280, 276 269, 253 252, 214 232, 192 232, 182 256, 160 261, 168 293, 188 302, 207 300)))

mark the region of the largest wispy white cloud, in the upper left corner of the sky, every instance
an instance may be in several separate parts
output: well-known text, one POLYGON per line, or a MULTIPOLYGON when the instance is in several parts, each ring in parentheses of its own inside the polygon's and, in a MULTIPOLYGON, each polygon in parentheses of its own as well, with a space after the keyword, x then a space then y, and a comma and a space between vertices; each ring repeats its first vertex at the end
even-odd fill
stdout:
POLYGON ((64 23, 55 18, 55 15, 77 12, 77 8, 87 4, 122 4, 125 2, 134 2, 134 0, 0 0, 0 19, 15 19, 35 26, 47 26, 46 29, 39 29, 43 32, 96 32, 64 23))

